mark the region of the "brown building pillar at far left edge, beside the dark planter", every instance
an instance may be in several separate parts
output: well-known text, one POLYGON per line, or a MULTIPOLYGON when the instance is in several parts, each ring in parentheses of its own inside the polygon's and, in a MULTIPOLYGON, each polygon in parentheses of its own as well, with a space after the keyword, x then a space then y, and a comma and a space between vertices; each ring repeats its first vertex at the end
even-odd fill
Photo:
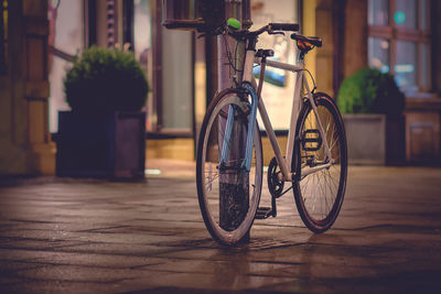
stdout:
POLYGON ((47 1, 0 8, 0 174, 51 174, 47 1))

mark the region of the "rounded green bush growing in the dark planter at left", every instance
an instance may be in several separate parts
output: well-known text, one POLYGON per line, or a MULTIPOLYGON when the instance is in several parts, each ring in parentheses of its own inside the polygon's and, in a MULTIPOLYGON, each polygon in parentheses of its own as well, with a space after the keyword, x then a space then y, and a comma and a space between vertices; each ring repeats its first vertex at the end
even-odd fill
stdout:
POLYGON ((139 111, 149 86, 130 52, 93 46, 76 57, 64 78, 66 100, 74 112, 139 111))

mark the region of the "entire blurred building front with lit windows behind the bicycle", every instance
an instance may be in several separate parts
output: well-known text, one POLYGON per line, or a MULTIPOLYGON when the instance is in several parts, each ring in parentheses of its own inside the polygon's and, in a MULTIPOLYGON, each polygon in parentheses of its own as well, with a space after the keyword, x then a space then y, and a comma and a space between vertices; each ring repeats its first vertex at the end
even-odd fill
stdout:
MULTIPOLYGON (((194 160, 209 97, 217 91, 217 46, 192 31, 161 25, 161 0, 1 0, 0 174, 51 174, 57 111, 66 110, 63 77, 92 45, 131 50, 149 79, 147 159, 194 160)), ((238 1, 240 2, 240 1, 238 1)), ((255 26, 299 22, 324 46, 306 66, 318 88, 335 97, 342 80, 370 66, 396 76, 406 92, 406 162, 440 159, 441 4, 434 0, 250 1, 255 26), (273 2, 273 1, 272 1, 273 2)), ((293 62, 294 44, 265 39, 293 62)), ((292 77, 269 85, 265 99, 286 140, 292 77), (287 99, 280 99, 286 97, 287 99)), ((263 140, 265 144, 265 140, 263 140)))

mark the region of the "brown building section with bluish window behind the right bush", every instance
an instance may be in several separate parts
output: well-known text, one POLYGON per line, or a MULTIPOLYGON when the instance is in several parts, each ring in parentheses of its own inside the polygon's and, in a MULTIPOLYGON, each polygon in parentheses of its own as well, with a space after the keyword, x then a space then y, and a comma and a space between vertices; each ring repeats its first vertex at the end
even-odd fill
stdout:
POLYGON ((303 13, 315 10, 315 13, 305 14, 303 28, 313 24, 311 20, 315 14, 315 32, 311 33, 322 35, 325 41, 324 50, 318 51, 315 57, 315 67, 321 69, 316 75, 319 88, 336 94, 345 77, 367 66, 392 74, 406 95, 402 162, 439 163, 439 1, 318 0, 303 3, 306 6, 303 13))

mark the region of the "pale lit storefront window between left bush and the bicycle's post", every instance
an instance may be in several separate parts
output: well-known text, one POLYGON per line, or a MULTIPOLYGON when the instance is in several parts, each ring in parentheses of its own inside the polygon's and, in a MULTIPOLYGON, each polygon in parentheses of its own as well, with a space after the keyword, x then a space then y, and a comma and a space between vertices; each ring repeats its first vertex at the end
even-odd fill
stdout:
MULTIPOLYGON (((193 35, 164 29, 154 14, 160 1, 132 1, 133 41, 130 47, 146 70, 149 94, 146 106, 146 129, 153 133, 186 135, 193 129, 193 35), (153 41, 154 37, 154 41, 153 41), (154 44, 154 46, 153 46, 154 44), (155 56, 155 59, 153 58, 155 56)), ((127 23, 126 28, 130 28, 127 23)), ((125 30, 125 35, 130 34, 125 30)), ((127 37, 125 37, 127 39, 127 37)), ((128 39, 127 39, 128 40, 128 39)))

